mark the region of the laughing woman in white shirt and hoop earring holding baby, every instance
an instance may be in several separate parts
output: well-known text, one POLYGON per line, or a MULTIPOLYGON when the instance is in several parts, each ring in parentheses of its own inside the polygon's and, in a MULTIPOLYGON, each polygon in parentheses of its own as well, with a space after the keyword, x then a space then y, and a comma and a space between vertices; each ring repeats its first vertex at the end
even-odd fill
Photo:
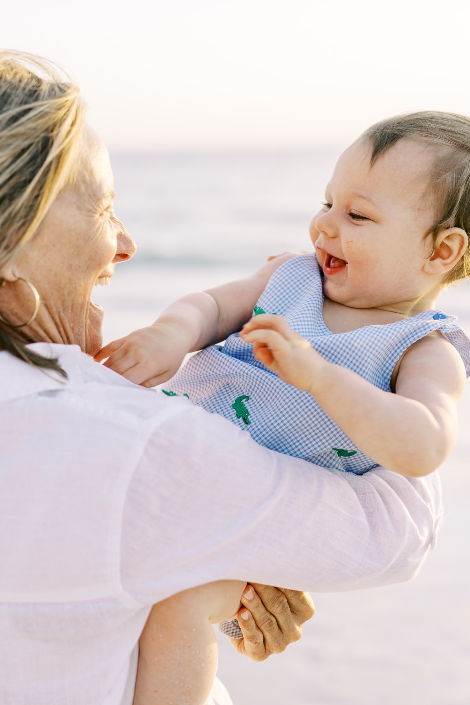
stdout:
MULTIPOLYGON (((130 705, 152 604, 216 580, 319 591, 409 580, 440 523, 435 474, 312 467, 91 360, 93 284, 135 250, 112 200, 78 90, 2 54, 2 704, 130 705)), ((262 605, 243 625, 255 658, 311 615, 287 596, 272 631, 256 626, 262 605)))

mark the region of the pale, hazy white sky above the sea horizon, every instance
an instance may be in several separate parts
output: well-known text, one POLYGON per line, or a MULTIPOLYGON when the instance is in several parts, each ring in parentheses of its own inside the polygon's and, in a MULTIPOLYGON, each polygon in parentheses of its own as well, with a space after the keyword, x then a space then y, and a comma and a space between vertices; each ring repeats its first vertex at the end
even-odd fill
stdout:
POLYGON ((0 46, 71 71, 115 151, 303 149, 470 114, 469 21, 455 0, 4 0, 0 46))

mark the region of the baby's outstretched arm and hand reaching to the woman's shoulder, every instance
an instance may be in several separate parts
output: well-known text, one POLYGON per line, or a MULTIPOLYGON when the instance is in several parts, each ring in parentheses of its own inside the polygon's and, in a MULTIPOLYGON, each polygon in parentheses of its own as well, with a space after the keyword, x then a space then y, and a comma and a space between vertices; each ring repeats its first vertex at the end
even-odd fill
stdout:
POLYGON ((168 306, 147 328, 105 345, 94 356, 135 384, 153 387, 178 372, 186 353, 223 341, 252 316, 254 305, 280 264, 298 252, 284 252, 251 276, 199 293, 168 306))

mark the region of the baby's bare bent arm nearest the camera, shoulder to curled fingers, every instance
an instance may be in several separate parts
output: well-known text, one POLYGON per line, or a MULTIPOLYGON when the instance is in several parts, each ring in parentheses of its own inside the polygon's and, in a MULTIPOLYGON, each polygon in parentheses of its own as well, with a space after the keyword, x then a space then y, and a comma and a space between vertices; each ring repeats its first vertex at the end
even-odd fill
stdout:
POLYGON ((278 316, 256 316, 240 336, 288 384, 311 393, 350 439, 405 477, 423 477, 447 458, 457 437, 457 400, 464 364, 454 346, 433 333, 405 353, 395 394, 350 369, 323 360, 278 316))

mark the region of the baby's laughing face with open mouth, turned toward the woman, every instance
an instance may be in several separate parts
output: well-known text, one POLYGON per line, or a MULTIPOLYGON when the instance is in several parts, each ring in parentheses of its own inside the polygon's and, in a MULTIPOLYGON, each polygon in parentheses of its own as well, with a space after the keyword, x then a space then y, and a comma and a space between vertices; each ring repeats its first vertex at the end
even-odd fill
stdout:
POLYGON ((326 205, 310 224, 328 298, 354 308, 414 300, 435 282, 423 272, 435 212, 426 197, 433 152, 400 140, 371 167, 369 143, 338 159, 326 205))

